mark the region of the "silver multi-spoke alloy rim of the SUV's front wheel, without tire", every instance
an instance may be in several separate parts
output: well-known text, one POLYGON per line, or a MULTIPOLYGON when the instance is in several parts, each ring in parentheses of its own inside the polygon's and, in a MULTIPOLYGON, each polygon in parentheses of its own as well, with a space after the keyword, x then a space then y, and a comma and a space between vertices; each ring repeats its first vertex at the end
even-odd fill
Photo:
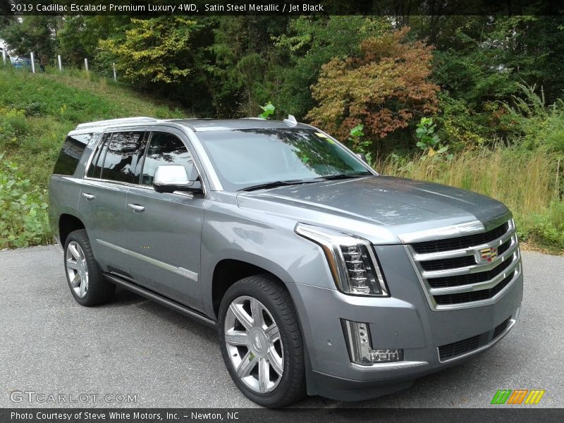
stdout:
POLYGON ((274 391, 284 372, 280 331, 256 298, 235 298, 226 312, 227 352, 238 378, 257 393, 274 391))

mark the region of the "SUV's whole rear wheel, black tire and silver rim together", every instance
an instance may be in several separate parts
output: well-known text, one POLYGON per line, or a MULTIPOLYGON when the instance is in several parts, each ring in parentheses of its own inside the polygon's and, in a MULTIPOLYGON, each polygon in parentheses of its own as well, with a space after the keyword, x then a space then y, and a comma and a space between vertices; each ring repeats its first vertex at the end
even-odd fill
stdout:
POLYGON ((80 305, 90 307, 111 299, 116 286, 102 276, 85 229, 71 232, 65 243, 68 287, 80 305))

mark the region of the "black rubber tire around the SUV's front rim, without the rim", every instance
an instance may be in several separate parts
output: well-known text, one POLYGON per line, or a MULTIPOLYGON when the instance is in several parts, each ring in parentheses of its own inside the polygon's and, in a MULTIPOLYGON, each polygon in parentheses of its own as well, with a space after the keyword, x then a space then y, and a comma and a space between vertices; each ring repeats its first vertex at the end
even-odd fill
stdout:
POLYGON ((302 333, 290 294, 281 281, 274 276, 264 274, 243 278, 233 284, 221 300, 218 326, 223 361, 235 385, 247 398, 263 407, 284 407, 306 395, 302 333), (257 393, 247 387, 237 375, 228 355, 225 338, 226 314, 231 302, 242 296, 259 300, 271 314, 280 333, 281 349, 283 349, 283 374, 280 376, 278 386, 269 393, 257 393))

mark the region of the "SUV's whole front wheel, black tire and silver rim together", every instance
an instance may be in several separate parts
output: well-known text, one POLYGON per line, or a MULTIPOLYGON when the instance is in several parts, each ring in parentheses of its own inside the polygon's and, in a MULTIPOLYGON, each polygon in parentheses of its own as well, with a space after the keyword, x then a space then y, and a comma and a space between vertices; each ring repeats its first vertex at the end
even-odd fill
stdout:
POLYGON ((219 308, 227 369, 247 398, 283 407, 305 396, 302 334, 288 291, 269 275, 241 279, 219 308))

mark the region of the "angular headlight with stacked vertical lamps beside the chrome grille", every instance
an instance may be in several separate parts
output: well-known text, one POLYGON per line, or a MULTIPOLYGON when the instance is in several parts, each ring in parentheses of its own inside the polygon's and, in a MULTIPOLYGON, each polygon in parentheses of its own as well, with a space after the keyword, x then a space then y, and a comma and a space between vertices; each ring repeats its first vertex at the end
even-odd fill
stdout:
POLYGON ((306 223, 298 223, 295 233, 323 249, 336 286, 343 293, 388 297, 384 274, 367 240, 306 223))

